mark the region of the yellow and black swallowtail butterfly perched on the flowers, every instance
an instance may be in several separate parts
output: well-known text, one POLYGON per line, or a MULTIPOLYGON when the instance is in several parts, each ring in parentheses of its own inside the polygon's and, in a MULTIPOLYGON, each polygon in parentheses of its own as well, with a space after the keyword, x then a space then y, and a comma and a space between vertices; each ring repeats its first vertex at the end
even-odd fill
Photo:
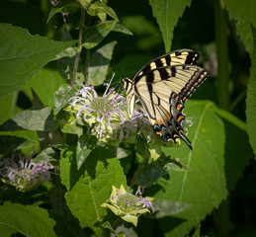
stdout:
POLYGON ((164 141, 182 139, 192 149, 182 123, 184 103, 208 77, 204 68, 195 65, 198 58, 199 54, 190 49, 172 51, 145 64, 132 79, 124 77, 128 117, 137 97, 164 141))

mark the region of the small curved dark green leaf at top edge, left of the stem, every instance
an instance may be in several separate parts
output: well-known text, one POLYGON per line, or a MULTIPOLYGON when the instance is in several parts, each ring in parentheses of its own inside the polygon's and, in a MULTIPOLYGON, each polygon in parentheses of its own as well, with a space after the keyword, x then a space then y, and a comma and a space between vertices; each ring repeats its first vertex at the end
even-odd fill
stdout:
POLYGON ((56 14, 56 13, 75 13, 80 8, 78 2, 74 0, 62 0, 56 6, 54 6, 48 15, 48 21, 56 14))

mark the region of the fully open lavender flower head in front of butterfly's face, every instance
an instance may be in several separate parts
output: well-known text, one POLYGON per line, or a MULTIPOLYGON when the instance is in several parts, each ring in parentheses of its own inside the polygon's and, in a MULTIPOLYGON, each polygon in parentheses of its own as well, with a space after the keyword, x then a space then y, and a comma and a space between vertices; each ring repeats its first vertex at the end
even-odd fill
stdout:
POLYGON ((100 139, 112 137, 114 131, 126 120, 120 109, 126 100, 114 88, 110 88, 111 81, 105 84, 106 91, 103 96, 97 94, 94 86, 83 86, 69 101, 76 118, 83 118, 88 122, 91 132, 100 139))

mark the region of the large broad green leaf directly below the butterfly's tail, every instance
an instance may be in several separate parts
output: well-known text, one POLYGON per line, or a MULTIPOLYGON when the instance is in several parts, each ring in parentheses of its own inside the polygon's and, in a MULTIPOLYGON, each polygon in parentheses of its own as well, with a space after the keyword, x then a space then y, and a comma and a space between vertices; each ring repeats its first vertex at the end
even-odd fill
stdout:
POLYGON ((155 198, 172 197, 191 206, 175 217, 161 219, 166 236, 188 234, 211 213, 234 189, 252 154, 245 125, 238 118, 217 109, 211 102, 188 101, 185 107, 186 116, 193 117, 194 122, 188 127, 193 151, 184 142, 179 147, 162 147, 162 150, 166 155, 180 158, 191 172, 169 172, 170 181, 159 180, 165 193, 159 192, 155 198))

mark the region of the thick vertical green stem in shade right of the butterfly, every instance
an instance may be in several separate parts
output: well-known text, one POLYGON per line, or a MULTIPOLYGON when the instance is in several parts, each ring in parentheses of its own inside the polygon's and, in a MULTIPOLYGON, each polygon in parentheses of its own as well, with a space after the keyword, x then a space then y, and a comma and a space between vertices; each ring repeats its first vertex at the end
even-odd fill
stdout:
POLYGON ((215 43, 217 53, 216 91, 218 106, 227 110, 230 104, 228 93, 228 46, 227 46, 227 15, 224 0, 214 0, 215 43))

